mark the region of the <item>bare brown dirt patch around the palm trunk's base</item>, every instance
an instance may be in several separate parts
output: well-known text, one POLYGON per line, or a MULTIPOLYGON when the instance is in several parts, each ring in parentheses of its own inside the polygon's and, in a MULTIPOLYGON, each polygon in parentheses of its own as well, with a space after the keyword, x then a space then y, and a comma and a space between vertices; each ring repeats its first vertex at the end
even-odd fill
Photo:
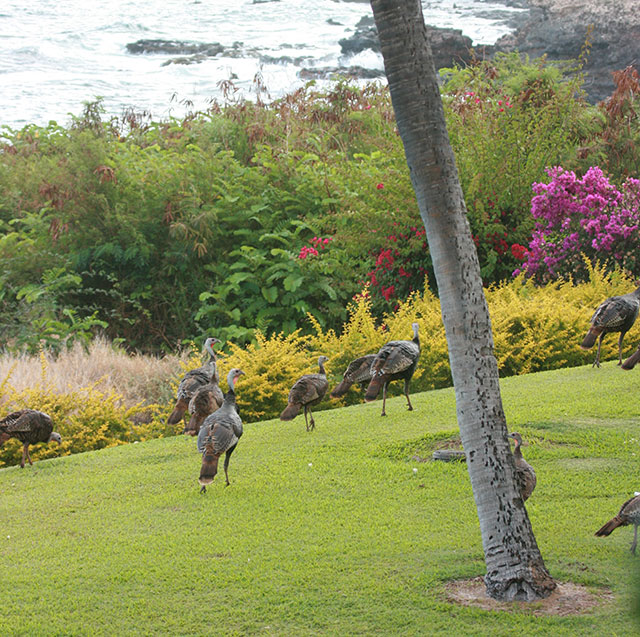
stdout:
POLYGON ((581 615, 598 606, 613 601, 613 593, 602 589, 596 593, 586 586, 572 582, 557 582, 558 586, 547 599, 538 602, 499 602, 487 595, 482 577, 447 582, 447 600, 462 606, 473 606, 483 610, 525 612, 542 615, 581 615))

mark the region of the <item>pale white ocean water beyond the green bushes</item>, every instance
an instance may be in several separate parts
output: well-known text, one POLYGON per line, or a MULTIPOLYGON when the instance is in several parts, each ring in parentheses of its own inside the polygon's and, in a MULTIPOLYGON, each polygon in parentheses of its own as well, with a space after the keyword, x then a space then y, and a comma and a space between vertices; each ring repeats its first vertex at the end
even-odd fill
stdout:
MULTIPOLYGON (((423 1, 425 21, 461 29, 474 44, 493 44, 517 9, 498 1, 423 1)), ((371 15, 368 2, 341 0, 2 0, 0 3, 0 127, 66 124, 83 104, 103 99, 110 115, 126 108, 154 119, 180 117, 221 99, 231 80, 251 99, 260 74, 269 97, 303 85, 307 67, 382 68, 371 51, 345 59, 339 40, 371 15), (197 64, 165 64, 175 55, 135 55, 140 39, 241 43, 238 56, 197 64)))

